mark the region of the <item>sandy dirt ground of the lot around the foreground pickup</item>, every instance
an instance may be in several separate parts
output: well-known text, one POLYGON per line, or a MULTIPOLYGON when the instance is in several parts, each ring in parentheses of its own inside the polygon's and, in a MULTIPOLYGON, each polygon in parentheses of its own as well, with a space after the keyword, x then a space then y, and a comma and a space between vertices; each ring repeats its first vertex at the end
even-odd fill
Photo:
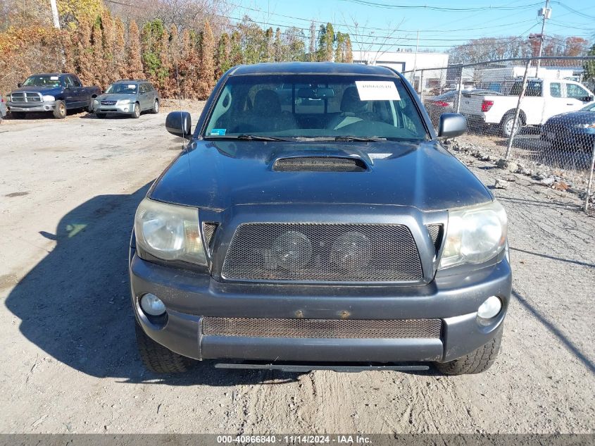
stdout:
MULTIPOLYGON (((186 106, 196 121, 201 104, 186 106)), ((595 218, 571 194, 470 157, 487 185, 507 186, 494 193, 514 270, 486 373, 146 372, 127 243, 134 209, 181 148, 166 111, 0 125, 1 433, 594 432, 595 218)))

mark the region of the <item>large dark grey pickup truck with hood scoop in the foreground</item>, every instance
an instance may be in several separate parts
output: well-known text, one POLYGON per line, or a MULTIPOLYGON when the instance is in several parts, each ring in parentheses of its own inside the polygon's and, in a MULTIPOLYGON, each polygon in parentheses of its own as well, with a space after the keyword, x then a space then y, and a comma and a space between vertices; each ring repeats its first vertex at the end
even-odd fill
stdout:
POLYGON ((151 371, 492 364, 511 295, 506 212, 441 145, 463 116, 434 132, 390 68, 261 63, 223 75, 194 132, 184 111, 165 127, 189 145, 139 204, 130 244, 151 371), (325 105, 297 113, 302 95, 325 105))

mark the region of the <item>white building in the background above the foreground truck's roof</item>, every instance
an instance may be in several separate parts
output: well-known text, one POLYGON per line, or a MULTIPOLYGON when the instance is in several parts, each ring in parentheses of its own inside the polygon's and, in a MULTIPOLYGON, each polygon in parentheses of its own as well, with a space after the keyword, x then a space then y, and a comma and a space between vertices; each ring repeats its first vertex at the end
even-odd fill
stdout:
POLYGON ((353 51, 353 63, 378 65, 394 68, 403 73, 415 85, 415 89, 427 91, 443 87, 446 83, 446 67, 449 55, 446 53, 414 53, 407 51, 353 51), (437 69, 439 68, 439 69, 437 69), (415 71, 415 82, 413 72, 415 71))

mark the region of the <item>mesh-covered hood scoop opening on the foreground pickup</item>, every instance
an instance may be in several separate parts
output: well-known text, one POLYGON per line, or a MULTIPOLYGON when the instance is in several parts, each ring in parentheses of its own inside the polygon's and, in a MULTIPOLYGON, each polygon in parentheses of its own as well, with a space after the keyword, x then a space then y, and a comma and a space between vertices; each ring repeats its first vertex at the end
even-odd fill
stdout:
POLYGON ((273 163, 276 172, 366 172, 368 165, 360 158, 346 156, 292 156, 273 163))

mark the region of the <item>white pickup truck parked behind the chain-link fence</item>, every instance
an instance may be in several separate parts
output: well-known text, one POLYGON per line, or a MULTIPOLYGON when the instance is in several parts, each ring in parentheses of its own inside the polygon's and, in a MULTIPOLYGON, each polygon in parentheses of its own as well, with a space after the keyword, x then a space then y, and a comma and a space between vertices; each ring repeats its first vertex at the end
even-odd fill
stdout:
MULTIPOLYGON (((542 125, 554 115, 577 111, 595 101, 593 93, 579 82, 565 79, 527 80, 525 97, 520 103, 519 123, 513 129, 522 80, 509 83, 508 94, 470 94, 463 92, 460 113, 468 123, 498 125, 505 137, 515 134, 524 125, 542 125)), ((505 91, 506 91, 505 90, 505 91)))

